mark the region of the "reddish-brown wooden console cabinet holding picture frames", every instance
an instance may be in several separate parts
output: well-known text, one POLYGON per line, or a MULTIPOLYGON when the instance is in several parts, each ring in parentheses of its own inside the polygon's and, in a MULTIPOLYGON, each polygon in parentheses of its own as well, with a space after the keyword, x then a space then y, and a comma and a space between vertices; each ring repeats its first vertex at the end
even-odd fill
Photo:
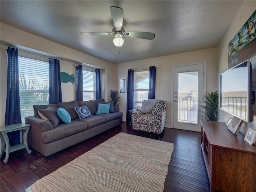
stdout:
POLYGON ((256 146, 225 123, 201 120, 201 150, 211 192, 256 192, 256 146))

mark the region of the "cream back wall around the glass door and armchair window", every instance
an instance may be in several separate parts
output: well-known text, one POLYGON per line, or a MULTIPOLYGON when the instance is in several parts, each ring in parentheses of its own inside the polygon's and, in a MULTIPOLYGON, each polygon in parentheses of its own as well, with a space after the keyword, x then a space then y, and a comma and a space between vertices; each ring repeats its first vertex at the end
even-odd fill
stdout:
MULTIPOLYGON (((216 68, 217 68, 217 49, 205 49, 192 52, 185 52, 181 54, 174 54, 169 56, 150 58, 138 60, 133 62, 126 62, 117 64, 117 78, 127 78, 128 69, 144 69, 150 66, 160 66, 156 68, 156 99, 165 100, 166 108, 166 127, 171 127, 171 94, 167 90, 171 90, 172 86, 172 66, 177 64, 186 64, 194 62, 207 62, 206 72, 206 91, 216 91, 216 68)), ((118 85, 116 86, 118 89, 118 85)), ((172 90, 171 90, 172 91, 172 90)), ((126 100, 127 94, 120 94, 121 106, 120 110, 123 112, 123 120, 126 121, 126 100)))

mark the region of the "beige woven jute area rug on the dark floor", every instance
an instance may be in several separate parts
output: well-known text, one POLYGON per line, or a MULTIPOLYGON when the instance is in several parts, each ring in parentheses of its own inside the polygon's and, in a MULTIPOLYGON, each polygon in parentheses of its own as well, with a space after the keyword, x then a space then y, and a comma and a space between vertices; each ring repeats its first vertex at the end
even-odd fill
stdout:
POLYGON ((119 133, 26 192, 162 192, 174 144, 119 133))

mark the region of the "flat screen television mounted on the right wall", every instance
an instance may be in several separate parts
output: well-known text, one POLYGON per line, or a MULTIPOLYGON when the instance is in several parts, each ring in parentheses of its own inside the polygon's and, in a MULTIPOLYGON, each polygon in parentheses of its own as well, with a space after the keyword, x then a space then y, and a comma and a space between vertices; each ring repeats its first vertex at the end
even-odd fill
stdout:
POLYGON ((246 60, 220 74, 220 109, 245 122, 253 121, 252 66, 246 60))

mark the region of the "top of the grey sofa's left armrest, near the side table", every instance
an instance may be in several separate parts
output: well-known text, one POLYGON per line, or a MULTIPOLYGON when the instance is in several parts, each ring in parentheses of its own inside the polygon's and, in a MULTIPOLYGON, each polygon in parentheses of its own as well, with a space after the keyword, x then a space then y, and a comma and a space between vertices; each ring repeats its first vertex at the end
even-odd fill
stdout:
POLYGON ((25 118, 25 122, 31 125, 31 129, 36 128, 40 134, 42 132, 45 132, 47 130, 53 129, 52 123, 49 121, 46 121, 44 119, 35 117, 35 116, 29 116, 25 118))

